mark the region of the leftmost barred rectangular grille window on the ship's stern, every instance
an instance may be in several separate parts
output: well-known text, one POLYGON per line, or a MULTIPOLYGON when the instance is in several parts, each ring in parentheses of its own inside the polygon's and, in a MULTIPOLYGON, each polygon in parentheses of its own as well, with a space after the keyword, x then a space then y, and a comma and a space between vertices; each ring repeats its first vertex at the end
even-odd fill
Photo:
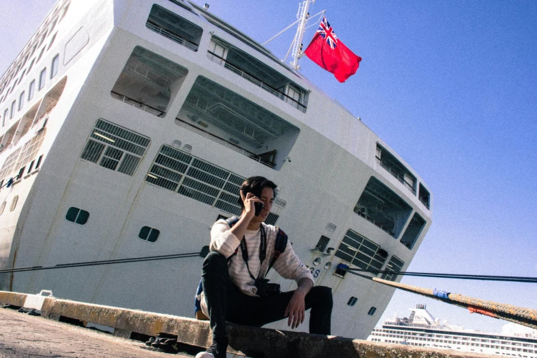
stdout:
POLYGON ((147 136, 99 119, 84 147, 82 159, 132 176, 149 145, 147 136))

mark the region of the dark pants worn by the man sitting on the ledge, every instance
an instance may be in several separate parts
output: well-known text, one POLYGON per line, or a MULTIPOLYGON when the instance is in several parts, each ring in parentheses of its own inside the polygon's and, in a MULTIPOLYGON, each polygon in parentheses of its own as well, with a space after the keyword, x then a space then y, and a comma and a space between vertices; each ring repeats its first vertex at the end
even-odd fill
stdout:
MULTIPOLYGON (((213 339, 226 337, 226 321, 245 326, 263 326, 283 320, 294 291, 267 297, 243 294, 228 274, 228 263, 219 252, 209 252, 203 261, 202 285, 208 307, 213 339)), ((330 334, 332 289, 315 286, 305 298, 311 309, 309 333, 330 334)))

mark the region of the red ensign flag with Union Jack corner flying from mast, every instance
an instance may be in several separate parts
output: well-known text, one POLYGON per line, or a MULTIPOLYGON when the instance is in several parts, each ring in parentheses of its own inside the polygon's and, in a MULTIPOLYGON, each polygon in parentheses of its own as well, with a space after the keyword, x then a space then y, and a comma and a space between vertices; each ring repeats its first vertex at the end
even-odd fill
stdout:
POLYGON ((361 61, 360 56, 356 56, 335 36, 326 17, 322 18, 319 29, 304 53, 320 67, 333 73, 339 82, 345 82, 354 75, 361 61))

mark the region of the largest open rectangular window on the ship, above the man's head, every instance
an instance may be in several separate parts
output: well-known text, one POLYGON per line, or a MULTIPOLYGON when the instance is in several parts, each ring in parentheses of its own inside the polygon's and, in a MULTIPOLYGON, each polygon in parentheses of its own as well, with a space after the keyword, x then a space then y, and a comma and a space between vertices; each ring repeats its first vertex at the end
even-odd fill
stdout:
POLYGON ((195 80, 176 124, 276 170, 300 133, 285 119, 202 76, 195 80))

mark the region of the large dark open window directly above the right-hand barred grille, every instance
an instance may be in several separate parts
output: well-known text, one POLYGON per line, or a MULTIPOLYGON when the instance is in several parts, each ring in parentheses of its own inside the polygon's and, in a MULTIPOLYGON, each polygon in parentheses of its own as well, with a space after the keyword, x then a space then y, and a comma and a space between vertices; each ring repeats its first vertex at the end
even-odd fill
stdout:
POLYGON ((371 177, 354 212, 396 238, 401 234, 412 208, 385 184, 371 177))

